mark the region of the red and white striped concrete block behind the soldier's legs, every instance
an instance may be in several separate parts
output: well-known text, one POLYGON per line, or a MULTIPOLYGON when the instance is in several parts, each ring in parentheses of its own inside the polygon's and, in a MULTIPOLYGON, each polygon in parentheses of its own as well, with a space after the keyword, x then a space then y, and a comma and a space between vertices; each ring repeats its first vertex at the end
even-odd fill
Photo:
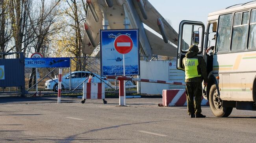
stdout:
MULTIPOLYGON (((202 106, 209 105, 209 101, 202 96, 202 106)), ((187 106, 185 89, 163 90, 163 106, 187 106)))

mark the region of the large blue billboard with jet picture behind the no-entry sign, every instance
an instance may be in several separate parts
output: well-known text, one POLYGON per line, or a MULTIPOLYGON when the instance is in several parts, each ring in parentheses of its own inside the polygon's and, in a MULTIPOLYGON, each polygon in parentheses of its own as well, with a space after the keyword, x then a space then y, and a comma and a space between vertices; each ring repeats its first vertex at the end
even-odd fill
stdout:
POLYGON ((117 50, 129 46, 132 49, 124 54, 125 75, 139 75, 139 29, 100 30, 101 76, 123 75, 123 54, 117 50), (117 42, 122 35, 132 42, 117 42))

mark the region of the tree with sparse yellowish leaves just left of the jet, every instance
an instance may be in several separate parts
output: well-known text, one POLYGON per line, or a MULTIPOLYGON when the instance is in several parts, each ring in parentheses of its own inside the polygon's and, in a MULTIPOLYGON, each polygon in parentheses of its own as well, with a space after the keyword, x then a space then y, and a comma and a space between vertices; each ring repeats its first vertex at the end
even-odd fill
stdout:
MULTIPOLYGON (((82 36, 83 23, 85 22, 86 4, 84 0, 65 0, 61 5, 64 12, 63 24, 65 27, 61 35, 59 35, 58 46, 62 51, 69 52, 75 57, 82 56, 82 36)), ((77 58, 76 71, 82 70, 82 60, 77 58)))

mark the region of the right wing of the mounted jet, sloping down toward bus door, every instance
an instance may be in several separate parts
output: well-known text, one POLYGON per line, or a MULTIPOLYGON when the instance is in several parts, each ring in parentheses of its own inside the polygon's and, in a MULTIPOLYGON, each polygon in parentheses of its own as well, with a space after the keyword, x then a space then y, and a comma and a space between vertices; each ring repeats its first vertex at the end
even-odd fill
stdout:
POLYGON ((155 7, 148 2, 148 0, 143 0, 143 4, 145 7, 145 11, 147 13, 147 20, 143 18, 143 15, 140 12, 137 0, 133 0, 135 8, 139 14, 139 17, 141 18, 141 21, 146 24, 148 27, 156 31, 157 33, 160 33, 160 29, 157 24, 157 19, 161 18, 163 25, 164 25, 164 30, 165 34, 168 38, 168 40, 175 45, 178 45, 178 33, 171 27, 171 25, 161 16, 161 14, 155 9, 155 7))

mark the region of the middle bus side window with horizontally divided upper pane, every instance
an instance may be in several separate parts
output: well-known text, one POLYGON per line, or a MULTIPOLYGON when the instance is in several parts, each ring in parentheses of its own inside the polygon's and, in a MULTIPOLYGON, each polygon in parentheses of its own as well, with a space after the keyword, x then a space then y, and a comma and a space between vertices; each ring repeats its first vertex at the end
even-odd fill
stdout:
POLYGON ((231 50, 244 50, 247 45, 249 11, 235 14, 231 50))

